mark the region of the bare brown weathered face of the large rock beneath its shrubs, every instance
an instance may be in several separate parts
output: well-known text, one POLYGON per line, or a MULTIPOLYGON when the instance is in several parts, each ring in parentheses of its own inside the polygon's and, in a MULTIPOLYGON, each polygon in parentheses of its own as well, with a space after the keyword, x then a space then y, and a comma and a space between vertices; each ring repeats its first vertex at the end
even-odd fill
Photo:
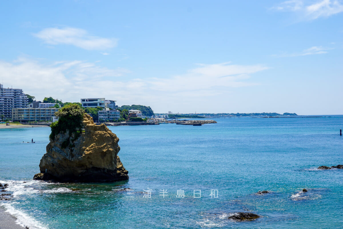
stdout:
POLYGON ((129 179, 128 171, 117 156, 119 139, 105 124, 96 125, 93 118, 85 114, 80 131, 76 139, 75 133, 67 130, 50 140, 39 163, 41 173, 35 175, 35 180, 107 182, 129 179))

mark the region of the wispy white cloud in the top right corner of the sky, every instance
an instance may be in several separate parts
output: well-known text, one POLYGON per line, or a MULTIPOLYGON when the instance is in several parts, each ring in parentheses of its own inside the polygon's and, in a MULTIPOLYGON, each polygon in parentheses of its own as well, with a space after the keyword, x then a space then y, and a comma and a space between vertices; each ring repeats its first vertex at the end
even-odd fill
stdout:
POLYGON ((300 19, 314 20, 320 17, 329 17, 343 12, 343 3, 339 0, 321 0, 307 3, 303 0, 282 2, 271 8, 276 11, 291 11, 298 13, 300 19))

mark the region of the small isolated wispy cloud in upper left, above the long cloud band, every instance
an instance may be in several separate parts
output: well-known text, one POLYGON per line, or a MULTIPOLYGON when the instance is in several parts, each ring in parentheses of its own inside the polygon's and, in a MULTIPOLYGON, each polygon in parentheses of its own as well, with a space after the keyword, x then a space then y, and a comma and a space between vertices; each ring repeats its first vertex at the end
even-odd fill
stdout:
POLYGON ((46 44, 74 45, 87 50, 104 50, 117 46, 117 39, 91 36, 86 30, 80 28, 45 28, 33 35, 42 39, 46 44))

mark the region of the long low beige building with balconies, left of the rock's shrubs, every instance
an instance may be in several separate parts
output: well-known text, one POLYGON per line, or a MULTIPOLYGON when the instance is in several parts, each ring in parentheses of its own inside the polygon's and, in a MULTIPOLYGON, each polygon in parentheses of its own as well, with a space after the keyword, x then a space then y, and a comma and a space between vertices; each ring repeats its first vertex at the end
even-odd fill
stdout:
POLYGON ((12 120, 17 122, 52 122, 55 112, 59 108, 13 108, 12 109, 12 120))

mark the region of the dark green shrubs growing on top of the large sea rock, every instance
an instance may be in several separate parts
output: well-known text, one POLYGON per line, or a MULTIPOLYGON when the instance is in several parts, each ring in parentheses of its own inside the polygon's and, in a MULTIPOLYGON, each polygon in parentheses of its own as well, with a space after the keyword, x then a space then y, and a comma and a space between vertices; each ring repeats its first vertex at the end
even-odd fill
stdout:
MULTIPOLYGON (((66 132, 67 129, 69 129, 70 134, 75 133, 75 139, 79 137, 84 113, 84 110, 77 104, 69 104, 62 107, 55 113, 55 115, 59 117, 59 120, 50 125, 50 140, 54 140, 57 134, 62 131, 66 132)), ((66 144, 63 144, 64 147, 68 145, 68 140, 69 139, 66 140, 66 144)))

